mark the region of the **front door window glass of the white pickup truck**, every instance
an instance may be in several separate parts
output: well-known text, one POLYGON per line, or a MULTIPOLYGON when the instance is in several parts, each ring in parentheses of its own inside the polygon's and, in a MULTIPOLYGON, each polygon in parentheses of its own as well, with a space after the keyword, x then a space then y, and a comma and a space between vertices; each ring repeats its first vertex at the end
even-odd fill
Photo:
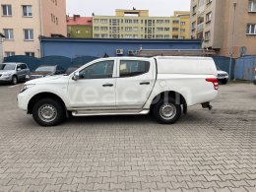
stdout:
POLYGON ((100 61, 79 73, 79 79, 106 79, 113 76, 114 61, 100 61))

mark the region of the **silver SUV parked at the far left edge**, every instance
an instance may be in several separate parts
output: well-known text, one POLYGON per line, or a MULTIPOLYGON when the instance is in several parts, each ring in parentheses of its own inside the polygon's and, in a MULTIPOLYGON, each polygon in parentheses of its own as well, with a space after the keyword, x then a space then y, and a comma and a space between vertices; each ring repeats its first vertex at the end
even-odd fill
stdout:
POLYGON ((30 69, 25 63, 1 63, 0 82, 12 83, 26 81, 30 77, 30 69))

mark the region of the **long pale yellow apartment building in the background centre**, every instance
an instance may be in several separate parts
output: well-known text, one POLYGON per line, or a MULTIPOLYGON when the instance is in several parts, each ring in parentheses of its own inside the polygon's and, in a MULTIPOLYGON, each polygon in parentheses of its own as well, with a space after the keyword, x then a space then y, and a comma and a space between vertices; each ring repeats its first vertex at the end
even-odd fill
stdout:
POLYGON ((189 38, 189 12, 150 17, 149 10, 116 10, 115 16, 94 16, 94 38, 189 38))

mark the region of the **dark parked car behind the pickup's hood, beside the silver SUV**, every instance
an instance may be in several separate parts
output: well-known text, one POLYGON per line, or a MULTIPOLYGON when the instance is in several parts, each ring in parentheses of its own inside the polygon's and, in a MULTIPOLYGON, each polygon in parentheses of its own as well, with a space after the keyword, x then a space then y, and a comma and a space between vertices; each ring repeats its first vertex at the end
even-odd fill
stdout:
POLYGON ((46 76, 65 74, 65 70, 57 65, 41 65, 31 73, 31 80, 46 76))

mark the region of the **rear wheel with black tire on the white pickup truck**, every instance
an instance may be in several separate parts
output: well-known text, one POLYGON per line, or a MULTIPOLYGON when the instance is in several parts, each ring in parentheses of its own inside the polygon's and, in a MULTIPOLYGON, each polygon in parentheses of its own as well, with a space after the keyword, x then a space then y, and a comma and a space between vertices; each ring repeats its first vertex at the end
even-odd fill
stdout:
POLYGON ((155 104, 152 109, 154 117, 162 124, 173 124, 181 116, 181 105, 175 104, 175 100, 173 98, 168 98, 167 101, 160 99, 160 101, 155 104), (172 111, 173 113, 169 117, 164 118, 161 112, 163 109, 162 107, 171 107, 171 109, 174 111, 172 111))

